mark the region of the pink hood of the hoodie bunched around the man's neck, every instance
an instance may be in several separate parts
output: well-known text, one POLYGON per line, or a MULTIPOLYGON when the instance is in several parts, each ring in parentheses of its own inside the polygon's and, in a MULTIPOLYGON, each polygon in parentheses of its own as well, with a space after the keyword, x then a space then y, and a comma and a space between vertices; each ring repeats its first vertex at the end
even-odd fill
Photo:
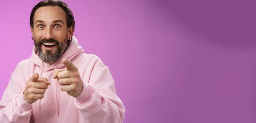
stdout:
POLYGON ((71 41, 71 44, 69 45, 68 49, 62 54, 62 56, 59 58, 59 60, 57 60, 57 62, 53 63, 52 65, 42 62, 40 57, 37 56, 35 46, 33 47, 31 60, 35 65, 39 66, 43 70, 43 72, 45 72, 45 71, 51 71, 56 68, 59 69, 59 68, 64 67, 65 65, 62 64, 63 58, 71 60, 74 57, 76 57, 78 54, 83 53, 83 52, 84 52, 84 50, 82 49, 81 46, 78 45, 77 39, 74 36, 72 36, 72 41, 71 41))

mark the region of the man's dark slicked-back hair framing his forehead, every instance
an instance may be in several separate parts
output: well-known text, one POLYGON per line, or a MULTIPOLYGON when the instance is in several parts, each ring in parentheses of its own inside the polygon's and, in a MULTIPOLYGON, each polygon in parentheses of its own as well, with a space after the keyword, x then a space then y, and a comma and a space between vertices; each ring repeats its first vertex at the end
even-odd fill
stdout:
POLYGON ((73 25, 73 28, 75 30, 75 20, 74 20, 74 15, 71 11, 71 9, 68 7, 68 5, 63 2, 63 1, 55 1, 55 0, 43 0, 41 2, 39 2, 31 11, 30 14, 30 27, 33 28, 34 27, 34 15, 35 12, 38 8, 42 7, 42 6, 59 6, 60 8, 62 8, 66 14, 66 23, 68 28, 73 25))

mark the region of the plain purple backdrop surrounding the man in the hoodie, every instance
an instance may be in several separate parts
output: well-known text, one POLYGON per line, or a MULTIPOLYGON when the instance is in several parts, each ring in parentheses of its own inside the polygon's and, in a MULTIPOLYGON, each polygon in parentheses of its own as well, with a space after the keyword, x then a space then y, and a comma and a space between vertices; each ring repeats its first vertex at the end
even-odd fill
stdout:
MULTIPOLYGON (((30 58, 38 2, 0 1, 0 95, 30 58)), ((124 123, 256 122, 255 0, 65 2, 78 43, 110 68, 124 123)))

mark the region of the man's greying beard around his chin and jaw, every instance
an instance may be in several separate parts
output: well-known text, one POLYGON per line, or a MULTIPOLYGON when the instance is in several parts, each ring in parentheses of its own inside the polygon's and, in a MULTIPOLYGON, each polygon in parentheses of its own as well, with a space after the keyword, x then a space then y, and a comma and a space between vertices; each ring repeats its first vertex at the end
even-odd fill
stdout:
POLYGON ((65 38, 62 43, 57 43, 57 50, 51 53, 51 50, 46 50, 45 53, 42 51, 41 43, 36 43, 34 40, 36 51, 38 52, 39 58, 45 63, 55 63, 59 60, 62 54, 68 49, 68 39, 65 38))

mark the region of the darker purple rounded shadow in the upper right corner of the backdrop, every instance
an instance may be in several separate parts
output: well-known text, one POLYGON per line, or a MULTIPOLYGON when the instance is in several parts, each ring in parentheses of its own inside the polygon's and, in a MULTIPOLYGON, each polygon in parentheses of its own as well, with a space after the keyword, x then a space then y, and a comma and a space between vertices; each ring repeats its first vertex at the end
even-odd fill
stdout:
POLYGON ((210 39, 198 41, 241 50, 256 48, 256 27, 251 25, 256 21, 256 3, 241 0, 164 0, 161 4, 169 14, 180 19, 182 28, 196 32, 194 37, 210 39))

